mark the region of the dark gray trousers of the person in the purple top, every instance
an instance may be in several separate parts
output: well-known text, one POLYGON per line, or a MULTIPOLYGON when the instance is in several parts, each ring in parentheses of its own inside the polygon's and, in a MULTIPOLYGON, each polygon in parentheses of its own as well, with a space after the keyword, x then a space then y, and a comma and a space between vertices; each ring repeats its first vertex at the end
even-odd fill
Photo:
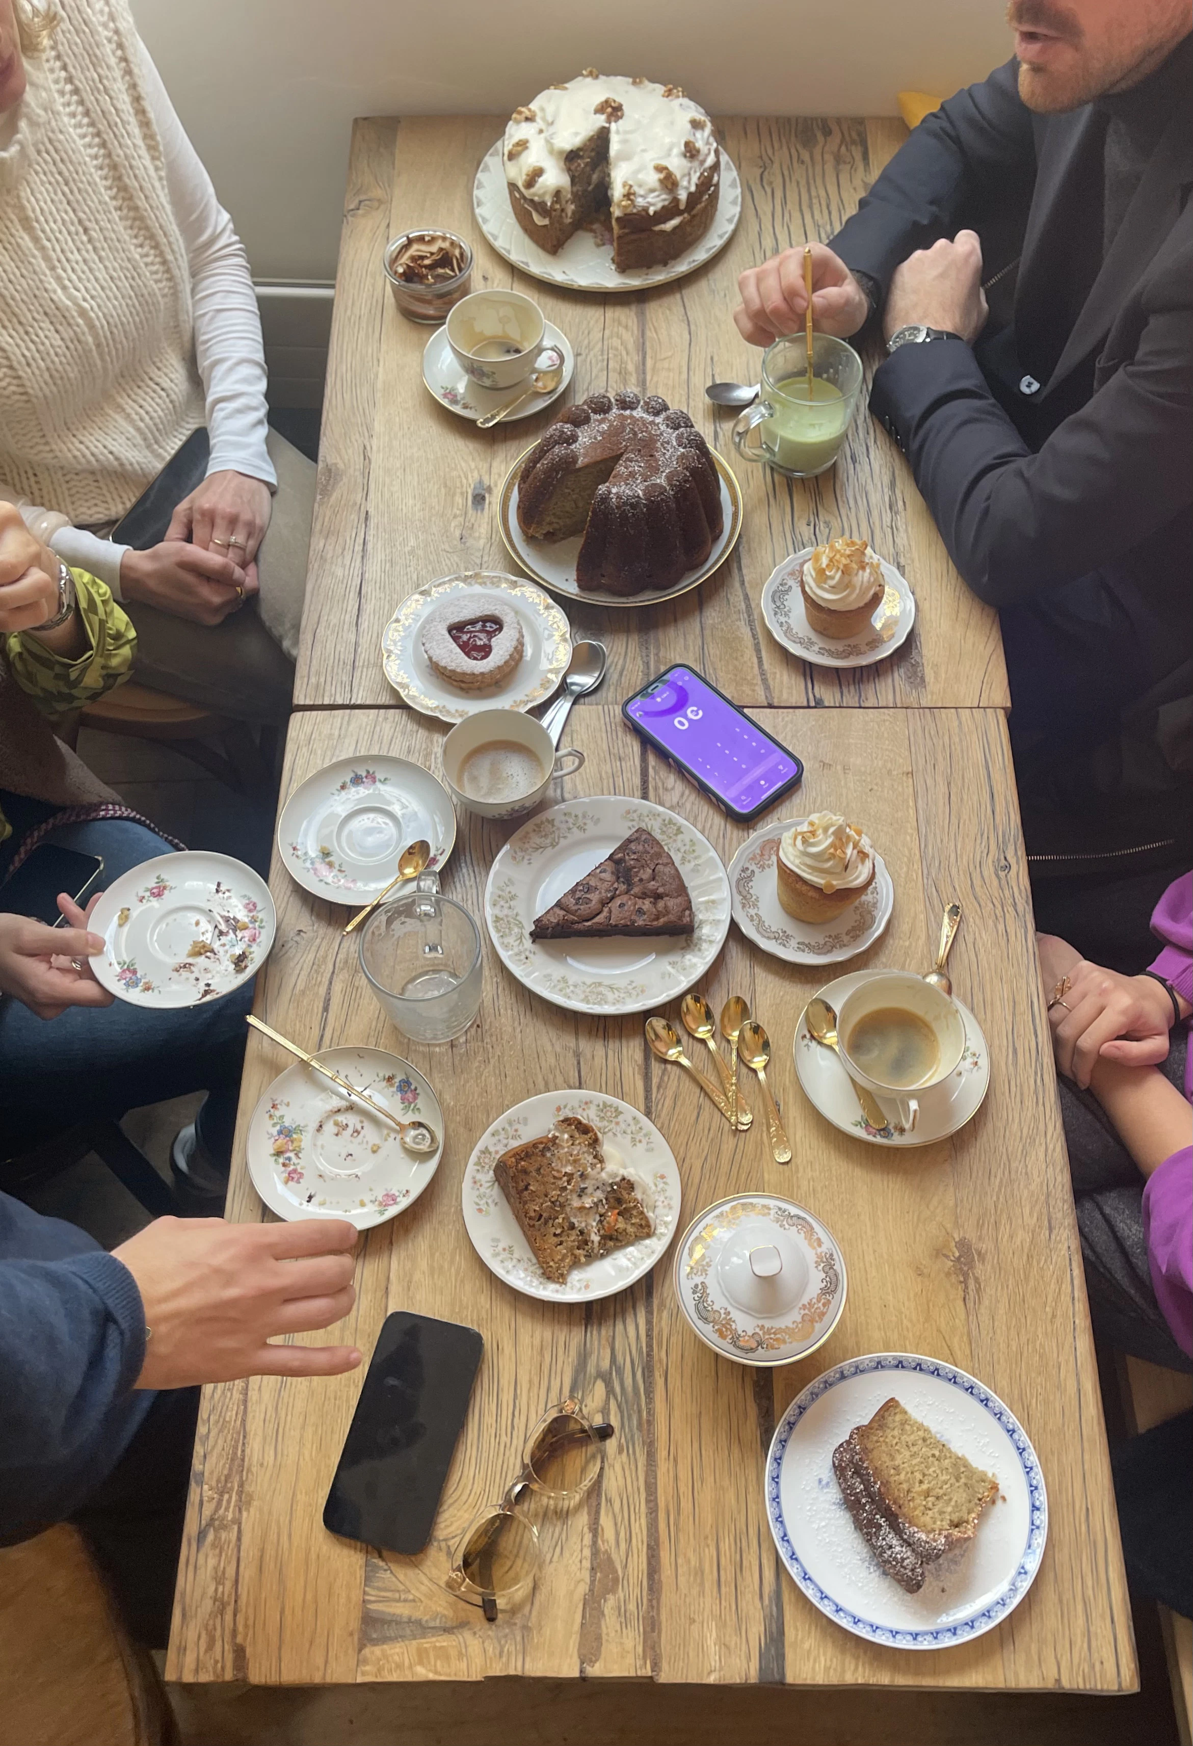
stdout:
MULTIPOLYGON (((1188 1037, 1174 1032, 1162 1069, 1181 1091, 1186 1049, 1188 1037)), ((1137 1358, 1193 1372, 1151 1289, 1144 1179, 1097 1098, 1071 1079, 1059 1083, 1093 1332, 1137 1358)))

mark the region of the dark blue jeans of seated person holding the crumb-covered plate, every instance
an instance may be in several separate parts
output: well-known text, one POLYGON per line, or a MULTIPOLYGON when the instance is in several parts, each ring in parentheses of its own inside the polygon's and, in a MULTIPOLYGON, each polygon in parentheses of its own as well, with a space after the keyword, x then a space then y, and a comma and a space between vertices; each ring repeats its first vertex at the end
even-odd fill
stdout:
MULTIPOLYGON (((7 794, 0 805, 14 835, 24 835, 37 814, 52 812, 7 794)), ((131 819, 66 824, 44 840, 103 856, 101 883, 154 856, 173 854, 169 843, 131 819)), ((3 847, 3 859, 10 859, 10 842, 3 847)), ((72 1006, 47 1021, 19 1000, 0 997, 0 1158, 19 1158, 89 1116, 119 1121, 143 1103, 206 1091, 199 1138, 211 1161, 227 1168, 252 999, 250 983, 189 1011, 152 1013, 117 1000, 108 1007, 72 1006)))

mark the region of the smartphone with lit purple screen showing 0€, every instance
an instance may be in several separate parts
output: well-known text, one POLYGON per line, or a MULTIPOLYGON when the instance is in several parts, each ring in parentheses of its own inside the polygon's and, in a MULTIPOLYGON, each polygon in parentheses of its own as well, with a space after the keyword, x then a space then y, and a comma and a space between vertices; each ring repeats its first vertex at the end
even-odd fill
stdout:
POLYGON ((803 779, 786 746, 693 667, 667 667, 622 704, 622 714, 676 770, 748 824, 803 779))

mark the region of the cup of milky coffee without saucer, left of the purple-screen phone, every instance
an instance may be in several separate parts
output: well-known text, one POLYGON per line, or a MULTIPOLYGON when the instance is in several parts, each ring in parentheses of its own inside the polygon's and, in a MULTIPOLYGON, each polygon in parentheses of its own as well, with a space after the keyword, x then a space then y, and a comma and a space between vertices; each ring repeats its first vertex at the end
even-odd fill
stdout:
POLYGON ((444 782, 456 805, 480 819, 521 819, 554 777, 582 765, 582 751, 557 753, 547 728, 517 709, 480 709, 444 740, 444 782))

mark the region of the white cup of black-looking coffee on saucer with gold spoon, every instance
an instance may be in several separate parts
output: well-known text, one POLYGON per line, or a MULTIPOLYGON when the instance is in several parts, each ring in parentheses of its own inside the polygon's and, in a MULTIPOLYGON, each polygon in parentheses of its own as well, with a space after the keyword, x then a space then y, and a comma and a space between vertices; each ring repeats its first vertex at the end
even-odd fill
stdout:
POLYGON ((966 1027, 948 995, 922 976, 880 971, 842 1000, 837 1041, 854 1079, 914 1133, 919 1096, 908 1093, 948 1079, 964 1053, 966 1027))

